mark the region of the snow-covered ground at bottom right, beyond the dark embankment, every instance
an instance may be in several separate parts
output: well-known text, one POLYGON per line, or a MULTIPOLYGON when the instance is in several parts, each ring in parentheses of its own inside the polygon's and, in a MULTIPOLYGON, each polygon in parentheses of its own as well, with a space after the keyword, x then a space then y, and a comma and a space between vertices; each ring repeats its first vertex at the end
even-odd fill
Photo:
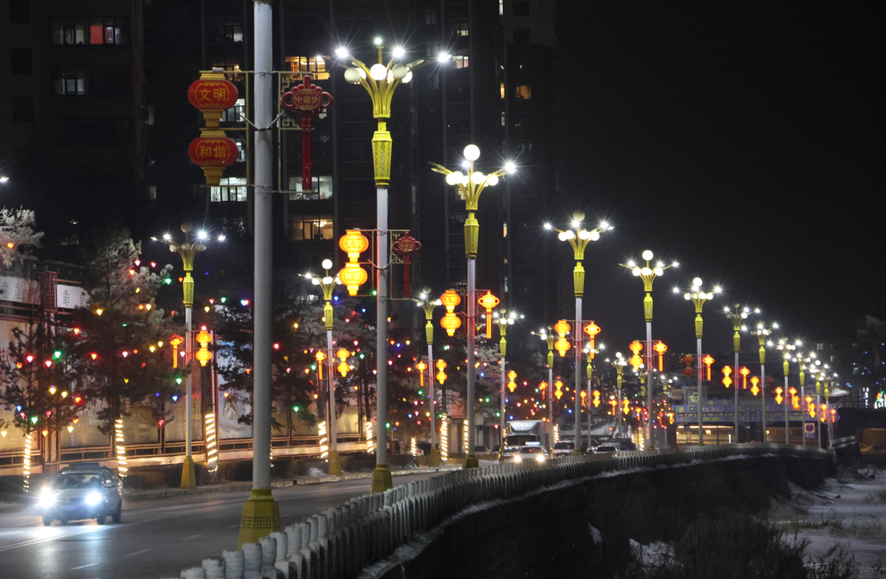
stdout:
POLYGON ((886 577, 886 473, 840 467, 815 491, 790 484, 790 493, 789 500, 772 501, 770 517, 809 541, 807 560, 842 546, 855 558, 859 577, 886 577))

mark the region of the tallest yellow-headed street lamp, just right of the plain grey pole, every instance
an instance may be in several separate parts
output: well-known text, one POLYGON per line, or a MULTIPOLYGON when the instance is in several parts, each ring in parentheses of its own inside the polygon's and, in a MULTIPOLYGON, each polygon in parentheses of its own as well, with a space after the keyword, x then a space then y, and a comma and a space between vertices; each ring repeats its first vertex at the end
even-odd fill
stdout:
MULTIPOLYGON (((393 488, 388 468, 388 186, 390 182, 391 153, 393 141, 388 130, 390 104, 394 91, 401 83, 412 79, 412 71, 429 63, 419 59, 408 64, 398 63, 405 54, 403 48, 394 49, 393 58, 383 63, 381 38, 375 39, 379 62, 367 66, 339 48, 340 65, 345 67, 345 80, 366 89, 372 99, 372 117, 378 121, 378 129, 372 136, 372 167, 376 193, 376 424, 379 444, 376 445, 375 470, 372 472, 371 492, 385 492, 393 488), (348 64, 349 63, 349 66, 348 64)), ((439 60, 443 60, 441 56, 439 60)))

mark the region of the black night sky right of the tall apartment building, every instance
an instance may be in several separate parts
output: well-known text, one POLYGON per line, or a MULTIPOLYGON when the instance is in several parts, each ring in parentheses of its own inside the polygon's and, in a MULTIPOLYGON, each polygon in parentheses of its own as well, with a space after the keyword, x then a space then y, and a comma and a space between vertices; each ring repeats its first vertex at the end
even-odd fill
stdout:
POLYGON ((642 282, 617 265, 643 249, 681 264, 653 293, 654 337, 676 347, 695 346, 672 293, 692 277, 723 286, 705 306, 711 352, 731 350, 732 302, 817 341, 884 305, 873 4, 557 4, 561 193, 616 227, 585 266, 611 349, 645 335, 642 282))

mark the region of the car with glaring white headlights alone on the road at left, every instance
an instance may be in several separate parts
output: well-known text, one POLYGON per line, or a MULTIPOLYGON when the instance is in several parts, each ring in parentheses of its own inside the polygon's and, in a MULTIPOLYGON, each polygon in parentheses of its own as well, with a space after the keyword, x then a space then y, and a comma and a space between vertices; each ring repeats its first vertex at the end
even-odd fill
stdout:
POLYGON ((108 467, 98 463, 63 467, 53 483, 40 492, 43 524, 52 525, 57 519, 67 525, 68 521, 95 518, 104 525, 107 517, 120 523, 122 492, 120 477, 108 467))

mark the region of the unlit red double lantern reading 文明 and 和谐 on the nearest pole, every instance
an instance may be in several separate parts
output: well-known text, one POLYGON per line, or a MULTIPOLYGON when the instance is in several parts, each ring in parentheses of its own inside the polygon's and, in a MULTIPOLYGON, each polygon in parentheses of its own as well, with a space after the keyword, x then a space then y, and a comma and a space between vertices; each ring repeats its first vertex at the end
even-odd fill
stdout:
POLYGON ((188 103, 202 112, 206 121, 200 136, 188 146, 188 158, 203 170, 207 185, 217 186, 222 169, 237 161, 237 143, 219 128, 222 113, 237 103, 237 98, 237 87, 221 72, 203 72, 188 87, 188 103))

